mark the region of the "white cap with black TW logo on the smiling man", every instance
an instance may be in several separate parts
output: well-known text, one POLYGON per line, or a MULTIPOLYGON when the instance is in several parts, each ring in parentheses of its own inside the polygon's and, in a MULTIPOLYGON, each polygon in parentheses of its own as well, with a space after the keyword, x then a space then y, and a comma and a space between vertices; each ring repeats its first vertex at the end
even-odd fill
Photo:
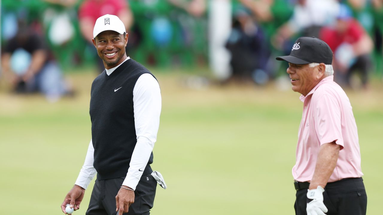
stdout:
POLYGON ((116 31, 119 34, 125 32, 124 23, 118 18, 118 16, 106 14, 98 17, 95 27, 93 28, 93 37, 96 37, 103 31, 116 31))

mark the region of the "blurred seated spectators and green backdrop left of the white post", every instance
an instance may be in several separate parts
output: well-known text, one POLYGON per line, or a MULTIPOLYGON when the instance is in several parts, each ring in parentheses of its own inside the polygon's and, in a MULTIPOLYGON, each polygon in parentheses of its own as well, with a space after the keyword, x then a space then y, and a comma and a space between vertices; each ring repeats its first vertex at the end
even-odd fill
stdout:
POLYGON ((63 68, 104 69, 92 32, 105 14, 124 22, 127 53, 142 64, 207 64, 204 0, 3 0, 1 78, 16 92, 41 92, 51 101, 72 94, 63 68))

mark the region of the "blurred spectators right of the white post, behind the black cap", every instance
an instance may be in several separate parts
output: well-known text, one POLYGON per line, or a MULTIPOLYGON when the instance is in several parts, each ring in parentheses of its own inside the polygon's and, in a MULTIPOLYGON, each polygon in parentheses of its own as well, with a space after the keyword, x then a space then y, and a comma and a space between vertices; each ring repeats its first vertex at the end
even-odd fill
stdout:
POLYGON ((329 44, 334 52, 335 80, 342 86, 355 86, 356 80, 358 87, 367 88, 368 74, 381 70, 382 0, 239 3, 227 44, 232 56, 236 56, 231 58, 234 77, 252 77, 259 84, 275 78, 278 72, 285 71, 275 62, 275 56, 288 55, 300 36, 315 36, 329 44))

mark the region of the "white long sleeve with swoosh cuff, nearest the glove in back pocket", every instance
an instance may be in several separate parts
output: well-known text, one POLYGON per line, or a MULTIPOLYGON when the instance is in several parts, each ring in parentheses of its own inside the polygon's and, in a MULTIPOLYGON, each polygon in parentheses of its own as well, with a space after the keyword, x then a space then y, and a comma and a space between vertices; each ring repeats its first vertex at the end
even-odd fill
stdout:
POLYGON ((157 80, 149 73, 141 75, 133 89, 134 125, 137 143, 128 173, 122 185, 136 189, 149 161, 160 123, 161 93, 157 80), (141 171, 139 171, 141 169, 141 171))

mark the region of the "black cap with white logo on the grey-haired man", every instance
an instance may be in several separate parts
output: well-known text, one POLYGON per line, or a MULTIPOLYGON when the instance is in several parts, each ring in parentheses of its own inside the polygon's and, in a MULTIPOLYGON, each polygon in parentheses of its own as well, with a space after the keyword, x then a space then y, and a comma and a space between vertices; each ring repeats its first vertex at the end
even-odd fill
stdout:
POLYGON ((324 63, 332 64, 332 50, 326 42, 316 37, 299 37, 290 55, 275 58, 291 64, 324 63))

